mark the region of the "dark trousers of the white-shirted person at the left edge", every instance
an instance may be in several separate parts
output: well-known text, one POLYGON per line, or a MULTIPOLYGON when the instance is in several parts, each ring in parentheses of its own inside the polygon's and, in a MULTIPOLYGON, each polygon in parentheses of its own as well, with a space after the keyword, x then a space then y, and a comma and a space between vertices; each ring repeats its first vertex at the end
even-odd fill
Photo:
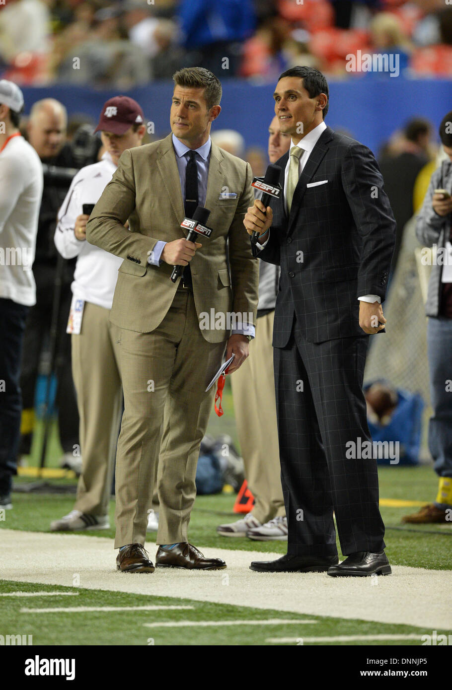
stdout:
POLYGON ((0 297, 0 495, 17 474, 22 397, 19 385, 23 331, 29 307, 0 297))

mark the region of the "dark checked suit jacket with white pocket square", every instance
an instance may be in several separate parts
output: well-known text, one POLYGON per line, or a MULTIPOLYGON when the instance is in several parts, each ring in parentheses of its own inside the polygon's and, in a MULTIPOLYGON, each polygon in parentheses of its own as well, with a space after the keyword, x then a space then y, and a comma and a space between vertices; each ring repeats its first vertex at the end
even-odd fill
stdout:
MULTIPOLYGON (((276 163, 282 186, 288 155, 276 163)), ((273 346, 286 346, 294 313, 308 342, 364 335, 357 298, 379 295, 383 302, 395 242, 371 150, 327 127, 299 177, 290 216, 284 198, 271 206, 268 243, 253 253, 281 266, 273 346), (308 186, 314 182, 324 184, 308 186)))

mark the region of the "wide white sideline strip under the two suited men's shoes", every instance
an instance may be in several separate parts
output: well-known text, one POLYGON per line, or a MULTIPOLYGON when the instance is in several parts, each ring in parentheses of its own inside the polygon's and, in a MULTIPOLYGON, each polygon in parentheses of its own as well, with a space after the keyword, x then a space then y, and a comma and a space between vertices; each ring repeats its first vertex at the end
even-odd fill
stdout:
MULTIPOLYGON (((202 548, 224 558, 222 571, 156 568, 116 570, 112 540, 86 535, 21 532, 1 528, 3 580, 77 586, 185 598, 304 615, 452 629, 452 571, 393 566, 386 578, 329 578, 326 573, 256 573, 252 560, 278 553, 202 548), (75 579, 77 576, 77 579, 75 579)), ((147 543, 151 560, 157 551, 147 543)))

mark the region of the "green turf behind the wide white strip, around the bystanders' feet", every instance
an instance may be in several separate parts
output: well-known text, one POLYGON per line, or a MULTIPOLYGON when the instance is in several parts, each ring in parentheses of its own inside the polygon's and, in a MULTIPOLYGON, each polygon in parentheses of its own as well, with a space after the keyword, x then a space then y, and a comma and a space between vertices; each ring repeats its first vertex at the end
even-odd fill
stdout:
MULTIPOLYGON (((429 467, 380 467, 380 496, 404 500, 429 501, 435 495, 436 476, 429 467)), ((24 478, 17 478, 23 484, 24 478)), ((70 480, 48 480, 50 484, 70 484, 70 480)), ((68 513, 74 504, 73 495, 13 493, 12 511, 6 511, 0 528, 30 531, 49 531, 52 520, 68 513)), ((285 542, 255 542, 246 538, 226 538, 217 535, 217 525, 232 522, 240 515, 233 513, 235 494, 198 496, 192 511, 189 538, 199 547, 213 546, 222 549, 242 551, 275 551, 286 553, 285 542)), ((382 506, 386 524, 386 553, 395 565, 415 566, 430 569, 452 569, 452 524, 403 525, 401 518, 417 511, 417 507, 390 508, 382 506)), ((113 538, 115 502, 110 502, 110 529, 83 532, 113 538)), ((150 533, 150 540, 155 533, 150 533)), ((340 544, 338 542, 340 551, 340 544)))

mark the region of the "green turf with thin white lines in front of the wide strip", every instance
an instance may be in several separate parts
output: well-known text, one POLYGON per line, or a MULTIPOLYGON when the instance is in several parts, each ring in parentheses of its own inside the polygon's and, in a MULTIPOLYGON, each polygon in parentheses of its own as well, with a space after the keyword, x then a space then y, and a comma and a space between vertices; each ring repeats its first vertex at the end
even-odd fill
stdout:
MULTIPOLYGON (((153 575, 129 575, 130 577, 152 578, 153 575)), ((419 647, 424 634, 431 629, 409 625, 377 623, 372 621, 300 615, 274 609, 253 609, 214 604, 170 597, 128 594, 114 591, 80 589, 25 582, 0 580, 1 635, 32 635, 33 645, 262 645, 278 644, 268 642, 269 638, 293 638, 293 642, 280 642, 296 646, 299 644, 353 644, 353 645, 412 645, 419 647), (77 596, 2 597, 6 592, 78 592, 77 596), (165 605, 193 606, 192 610, 167 611, 92 611, 83 613, 23 613, 21 609, 55 607, 130 607, 165 605), (271 624, 218 627, 148 628, 150 622, 188 622, 224 620, 316 620, 315 624, 271 624), (310 636, 329 637, 335 635, 407 635, 415 634, 413 640, 355 640, 353 642, 308 642, 310 636)), ((438 635, 450 631, 438 630, 438 635)))

